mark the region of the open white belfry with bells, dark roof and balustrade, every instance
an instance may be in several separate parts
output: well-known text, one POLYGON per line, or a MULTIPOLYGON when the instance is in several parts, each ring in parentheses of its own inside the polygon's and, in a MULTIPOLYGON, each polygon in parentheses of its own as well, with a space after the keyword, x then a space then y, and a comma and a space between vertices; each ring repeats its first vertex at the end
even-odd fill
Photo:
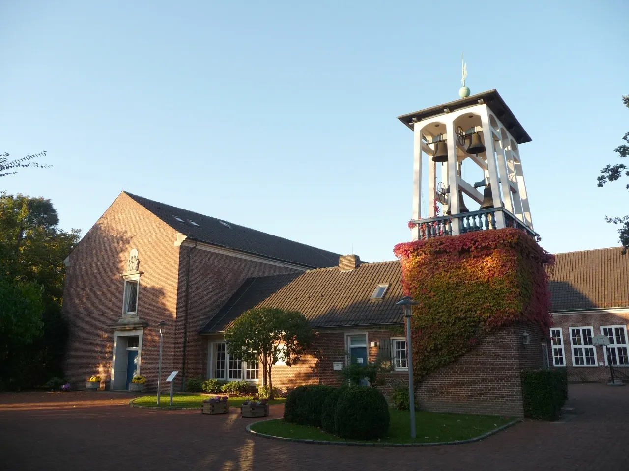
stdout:
POLYGON ((460 95, 398 117, 415 134, 413 241, 503 227, 540 240, 518 147, 531 138, 496 90, 460 95))

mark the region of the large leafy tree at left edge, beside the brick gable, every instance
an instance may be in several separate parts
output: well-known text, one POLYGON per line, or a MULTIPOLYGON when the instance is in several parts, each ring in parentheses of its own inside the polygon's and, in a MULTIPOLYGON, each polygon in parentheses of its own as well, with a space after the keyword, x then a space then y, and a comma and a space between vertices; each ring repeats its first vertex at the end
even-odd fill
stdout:
MULTIPOLYGON (((38 290, 42 304, 38 328, 31 337, 27 330, 10 330, 11 324, 3 323, 0 384, 4 387, 36 386, 50 376, 62 376, 67 340, 67 325, 61 315, 64 259, 79 240, 79 231, 65 232, 58 222, 50 200, 0 193, 0 281, 7 299, 12 296, 14 300, 13 305, 3 302, 7 310, 2 313, 3 321, 10 316, 9 306, 18 306, 19 290, 31 300, 30 306, 35 306, 33 293, 38 290), (31 287, 28 296, 26 286, 31 287)), ((25 315, 25 319, 33 321, 25 320, 25 325, 37 323, 34 314, 25 315)))

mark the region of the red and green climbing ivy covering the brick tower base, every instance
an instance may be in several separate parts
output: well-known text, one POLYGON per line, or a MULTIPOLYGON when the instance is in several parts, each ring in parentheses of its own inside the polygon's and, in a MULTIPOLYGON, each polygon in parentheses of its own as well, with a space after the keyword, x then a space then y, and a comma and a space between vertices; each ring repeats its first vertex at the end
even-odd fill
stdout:
POLYGON ((514 322, 552 326, 548 271, 555 259, 519 229, 483 230, 394 248, 413 307, 418 380, 514 322))

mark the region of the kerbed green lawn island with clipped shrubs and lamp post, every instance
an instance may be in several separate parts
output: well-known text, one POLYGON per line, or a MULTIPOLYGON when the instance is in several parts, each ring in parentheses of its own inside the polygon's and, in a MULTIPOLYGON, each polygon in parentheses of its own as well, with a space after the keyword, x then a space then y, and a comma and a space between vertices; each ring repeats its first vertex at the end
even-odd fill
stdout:
MULTIPOLYGON (((411 439, 410 416, 408 411, 389 409, 391 425, 389 436, 382 438, 381 443, 430 443, 435 441, 467 440, 494 430, 513 420, 513 417, 472 415, 472 414, 440 414, 436 412, 417 412, 415 414, 416 436, 411 439)), ((307 425, 294 425, 284 419, 258 422, 251 425, 251 430, 268 435, 286 438, 304 438, 310 440, 329 441, 361 441, 338 438, 320 428, 307 425)), ((378 441, 378 440, 367 440, 378 441)))

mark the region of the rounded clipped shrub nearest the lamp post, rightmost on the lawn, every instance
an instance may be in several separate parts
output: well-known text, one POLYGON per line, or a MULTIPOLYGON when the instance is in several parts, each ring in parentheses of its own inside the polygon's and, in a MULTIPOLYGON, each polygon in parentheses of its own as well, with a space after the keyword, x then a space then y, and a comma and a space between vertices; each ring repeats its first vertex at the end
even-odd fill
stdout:
POLYGON ((389 407, 376 387, 348 387, 338 398, 335 430, 342 438, 371 440, 389 431, 389 407))

